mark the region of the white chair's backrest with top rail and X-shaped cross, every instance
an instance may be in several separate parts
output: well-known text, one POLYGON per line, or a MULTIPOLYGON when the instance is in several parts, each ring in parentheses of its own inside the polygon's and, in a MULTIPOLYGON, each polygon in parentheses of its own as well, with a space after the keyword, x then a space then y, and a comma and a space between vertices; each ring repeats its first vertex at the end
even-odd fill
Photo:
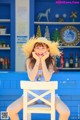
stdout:
MULTIPOLYGON (((29 93, 32 96, 34 96, 35 98, 31 101, 27 101, 28 105, 32 104, 33 102, 37 101, 38 99, 40 99, 41 101, 43 101, 44 103, 51 105, 50 102, 48 102, 46 99, 44 99, 43 97, 45 97, 48 94, 51 94, 52 97, 54 97, 55 95, 55 90, 58 88, 58 82, 57 81, 51 81, 51 82, 30 82, 30 81, 21 81, 21 89, 23 89, 24 93, 29 93), (35 94, 35 92, 33 92, 32 90, 47 90, 45 91, 43 94, 38 95, 35 94)), ((26 95, 25 95, 26 96, 26 95)), ((54 98, 53 98, 54 99, 54 98)))

